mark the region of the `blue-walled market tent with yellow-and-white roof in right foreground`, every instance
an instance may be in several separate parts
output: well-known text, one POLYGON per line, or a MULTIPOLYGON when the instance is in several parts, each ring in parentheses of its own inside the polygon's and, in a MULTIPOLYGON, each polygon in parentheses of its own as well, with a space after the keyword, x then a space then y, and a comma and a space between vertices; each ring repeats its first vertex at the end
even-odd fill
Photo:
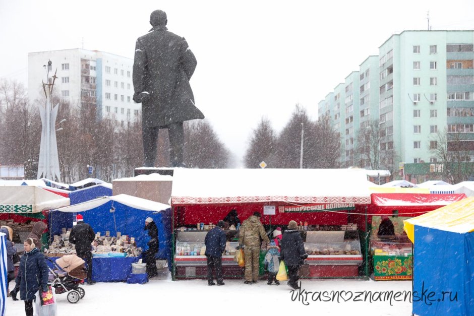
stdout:
POLYGON ((436 295, 413 300, 413 313, 474 314, 474 198, 405 220, 404 230, 414 243, 413 290, 436 295))

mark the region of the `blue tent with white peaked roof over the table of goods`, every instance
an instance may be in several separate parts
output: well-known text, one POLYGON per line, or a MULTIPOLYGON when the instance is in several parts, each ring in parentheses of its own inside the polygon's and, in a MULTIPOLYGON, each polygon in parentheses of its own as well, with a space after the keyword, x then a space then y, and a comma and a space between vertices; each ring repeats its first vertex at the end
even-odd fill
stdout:
POLYGON ((145 219, 153 218, 158 227, 158 259, 168 260, 171 267, 171 209, 168 205, 121 194, 102 197, 88 202, 54 210, 49 215, 49 235, 61 234, 62 228, 72 228, 76 214, 82 214, 84 222, 91 225, 95 232, 110 235, 121 232, 122 235, 135 237, 138 247, 147 248, 149 236, 145 219))

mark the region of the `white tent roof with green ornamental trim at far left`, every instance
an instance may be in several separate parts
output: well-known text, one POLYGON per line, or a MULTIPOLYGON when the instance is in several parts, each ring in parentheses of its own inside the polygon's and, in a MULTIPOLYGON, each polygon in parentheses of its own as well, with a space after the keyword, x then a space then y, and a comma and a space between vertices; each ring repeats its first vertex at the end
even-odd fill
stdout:
POLYGON ((69 204, 69 198, 38 186, 0 186, 0 213, 38 213, 69 204))

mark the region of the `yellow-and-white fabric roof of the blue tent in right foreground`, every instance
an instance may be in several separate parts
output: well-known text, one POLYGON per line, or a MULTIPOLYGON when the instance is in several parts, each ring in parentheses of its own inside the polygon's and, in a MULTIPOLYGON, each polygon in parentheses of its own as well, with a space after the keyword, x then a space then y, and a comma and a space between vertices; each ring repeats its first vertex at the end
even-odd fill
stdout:
POLYGON ((404 220, 403 229, 413 243, 414 225, 456 233, 474 231, 474 197, 404 220))

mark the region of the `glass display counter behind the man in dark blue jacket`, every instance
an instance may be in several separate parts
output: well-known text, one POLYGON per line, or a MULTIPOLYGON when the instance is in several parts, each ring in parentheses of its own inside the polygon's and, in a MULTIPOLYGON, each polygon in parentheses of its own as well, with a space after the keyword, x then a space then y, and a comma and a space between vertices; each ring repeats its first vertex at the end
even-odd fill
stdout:
MULTIPOLYGON (((244 276, 244 268, 234 261, 235 247, 238 241, 233 240, 237 231, 225 231, 227 244, 222 256, 222 275, 225 279, 240 279, 244 276)), ((207 230, 176 231, 174 249, 174 269, 177 279, 205 279, 207 277, 207 259, 204 255, 206 247, 204 239, 207 230)))

